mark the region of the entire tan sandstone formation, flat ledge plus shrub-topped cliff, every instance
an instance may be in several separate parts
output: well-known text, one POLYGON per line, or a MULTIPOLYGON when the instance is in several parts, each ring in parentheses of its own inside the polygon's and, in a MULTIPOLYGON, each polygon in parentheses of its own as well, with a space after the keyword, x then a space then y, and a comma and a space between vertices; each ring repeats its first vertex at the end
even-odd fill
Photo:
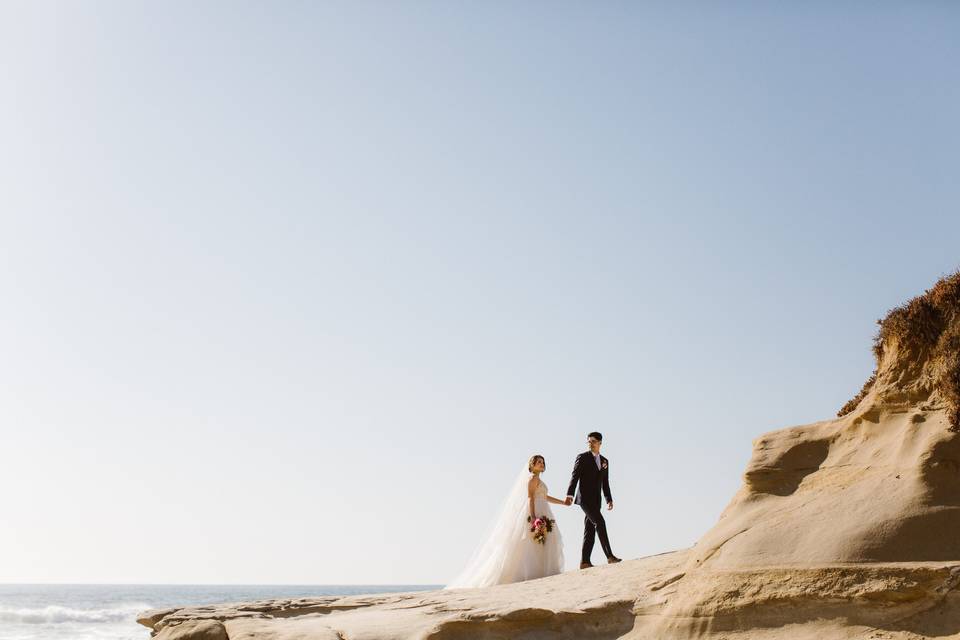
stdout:
POLYGON ((765 434, 691 549, 490 589, 147 612, 157 640, 960 639, 960 273, 837 418, 765 434))

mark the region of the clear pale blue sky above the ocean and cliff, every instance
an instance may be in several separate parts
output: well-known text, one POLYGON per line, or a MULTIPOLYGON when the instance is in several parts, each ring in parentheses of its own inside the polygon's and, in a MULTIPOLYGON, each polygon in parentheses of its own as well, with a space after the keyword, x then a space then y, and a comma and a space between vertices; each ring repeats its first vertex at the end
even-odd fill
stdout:
POLYGON ((689 546, 960 266, 958 14, 4 2, 0 581, 442 583, 594 429, 689 546))

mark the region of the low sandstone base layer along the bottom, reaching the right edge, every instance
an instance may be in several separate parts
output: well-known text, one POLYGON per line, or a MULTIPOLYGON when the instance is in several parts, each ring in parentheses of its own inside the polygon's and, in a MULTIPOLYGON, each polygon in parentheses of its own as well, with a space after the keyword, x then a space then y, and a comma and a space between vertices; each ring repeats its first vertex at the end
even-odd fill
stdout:
POLYGON ((960 638, 960 562, 686 574, 689 560, 679 551, 490 589, 190 607, 147 626, 158 640, 960 638))

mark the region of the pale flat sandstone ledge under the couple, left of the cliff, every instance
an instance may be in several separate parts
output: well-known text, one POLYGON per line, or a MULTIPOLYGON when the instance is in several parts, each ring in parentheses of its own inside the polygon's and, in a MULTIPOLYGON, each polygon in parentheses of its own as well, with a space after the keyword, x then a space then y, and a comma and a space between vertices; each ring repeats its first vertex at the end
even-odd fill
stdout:
POLYGON ((194 637, 192 628, 164 634, 207 622, 222 625, 230 640, 618 638, 634 628, 638 606, 656 606, 684 557, 664 554, 490 589, 190 607, 141 622, 158 638, 184 639, 194 637))

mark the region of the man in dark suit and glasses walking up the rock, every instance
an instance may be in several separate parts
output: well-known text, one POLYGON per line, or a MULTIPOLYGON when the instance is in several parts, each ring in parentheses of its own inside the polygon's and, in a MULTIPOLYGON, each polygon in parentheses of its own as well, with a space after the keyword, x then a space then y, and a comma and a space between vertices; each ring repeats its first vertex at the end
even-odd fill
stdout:
POLYGON ((583 552, 580 556, 580 568, 587 569, 592 567, 590 554, 593 553, 593 543, 596 536, 600 536, 600 546, 603 548, 604 555, 607 556, 609 564, 620 562, 620 558, 613 555, 610 549, 610 540, 607 538, 607 523, 600 513, 600 489, 603 488, 603 496, 607 499, 607 510, 613 509, 613 498, 610 496, 610 462, 600 455, 600 445, 603 444, 603 436, 599 432, 593 431, 587 434, 587 445, 589 451, 584 451, 577 456, 573 463, 573 475, 570 477, 570 487, 567 489, 567 499, 564 504, 569 506, 574 502, 573 496, 576 491, 576 502, 583 509, 583 552), (577 489, 577 483, 580 488, 577 489))

